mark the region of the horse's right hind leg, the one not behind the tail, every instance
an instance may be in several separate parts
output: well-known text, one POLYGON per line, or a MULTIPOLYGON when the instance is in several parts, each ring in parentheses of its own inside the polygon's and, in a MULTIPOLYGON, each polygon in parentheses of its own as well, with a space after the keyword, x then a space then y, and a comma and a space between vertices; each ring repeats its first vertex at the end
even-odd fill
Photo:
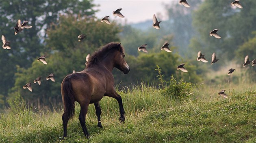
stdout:
POLYGON ((88 133, 87 127, 85 125, 85 116, 86 116, 87 111, 88 111, 89 103, 80 104, 80 106, 81 106, 81 109, 80 109, 80 114, 79 114, 78 119, 79 119, 80 124, 82 126, 82 131, 84 132, 86 138, 89 139, 89 133, 88 133))

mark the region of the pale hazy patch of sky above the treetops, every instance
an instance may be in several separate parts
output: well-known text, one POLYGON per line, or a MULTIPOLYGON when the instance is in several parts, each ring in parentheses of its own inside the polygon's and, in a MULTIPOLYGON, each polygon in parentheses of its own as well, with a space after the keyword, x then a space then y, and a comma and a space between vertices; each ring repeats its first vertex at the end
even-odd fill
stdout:
MULTIPOLYGON (((163 4, 170 4, 171 1, 179 0, 94 0, 93 3, 100 4, 100 11, 96 16, 101 19, 110 15, 110 19, 126 21, 127 23, 138 23, 152 19, 154 14, 161 13, 163 16, 160 20, 165 20, 165 8, 163 4), (125 18, 114 17, 113 11, 123 8, 120 12, 125 18)), ((159 19, 158 19, 159 21, 159 19)))

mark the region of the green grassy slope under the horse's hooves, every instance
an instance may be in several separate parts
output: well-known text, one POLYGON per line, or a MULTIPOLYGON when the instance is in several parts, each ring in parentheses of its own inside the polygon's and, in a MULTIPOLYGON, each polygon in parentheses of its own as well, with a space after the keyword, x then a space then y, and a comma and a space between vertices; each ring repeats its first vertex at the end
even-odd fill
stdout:
POLYGON ((126 111, 125 124, 119 123, 115 99, 104 97, 100 102, 103 128, 97 127, 94 106, 90 105, 86 118, 90 139, 82 132, 78 104, 65 140, 59 139, 63 135, 61 109, 43 112, 22 106, 6 110, 0 116, 0 142, 256 142, 256 91, 230 90, 228 99, 216 94, 204 100, 200 98, 202 92, 195 90, 186 101, 170 99, 161 91, 143 85, 119 91, 126 111))

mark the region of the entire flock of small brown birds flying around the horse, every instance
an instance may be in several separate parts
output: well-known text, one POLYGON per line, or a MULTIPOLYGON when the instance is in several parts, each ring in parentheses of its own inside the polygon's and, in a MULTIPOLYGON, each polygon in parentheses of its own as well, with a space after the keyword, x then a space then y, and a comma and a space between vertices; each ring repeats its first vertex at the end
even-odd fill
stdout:
MULTIPOLYGON (((184 5, 185 7, 189 8, 189 4, 187 2, 187 0, 180 0, 179 1, 179 4, 182 4, 184 5)), ((231 3, 232 6, 236 6, 238 8, 243 8, 239 2, 239 0, 235 0, 234 2, 231 3)), ((122 8, 119 8, 117 9, 116 11, 113 11, 113 15, 114 16, 118 16, 118 17, 121 17, 121 18, 124 18, 125 16, 121 14, 121 11, 122 8)), ((108 17, 110 16, 106 16, 104 18, 101 19, 101 22, 105 22, 106 24, 111 24, 108 17)), ((158 21, 157 18, 156 18, 156 15, 153 15, 153 27, 155 29, 160 29, 160 23, 162 21, 158 21)), ((30 29, 32 26, 28 25, 28 21, 24 21, 23 23, 21 23, 21 20, 19 19, 15 25, 15 27, 13 27, 15 29, 15 35, 17 35, 19 32, 21 32, 24 28, 25 29, 30 29)), ((217 39, 220 39, 221 36, 219 36, 217 34, 217 31, 219 29, 214 29, 212 31, 210 31, 210 36, 214 36, 215 38, 217 39)), ((78 42, 80 42, 81 40, 85 39, 86 38, 86 35, 85 34, 80 34, 78 36, 78 42)), ((2 48, 4 49, 11 49, 11 46, 10 46, 10 42, 11 41, 7 41, 7 39, 4 37, 4 35, 2 35, 2 42, 3 42, 3 45, 2 45, 2 48)), ((138 50, 139 51, 143 51, 145 53, 148 53, 148 50, 146 49, 146 46, 147 44, 143 44, 141 46, 138 47, 138 50)), ((163 46, 161 47, 161 50, 165 50, 166 52, 171 52, 171 50, 169 49, 169 43, 168 42, 165 42, 163 44, 163 46)), ((86 63, 85 65, 87 64, 88 62, 88 59, 89 59, 89 56, 90 54, 87 55, 86 57, 86 63)), ((202 61, 204 63, 208 63, 208 61, 204 58, 205 55, 202 55, 201 51, 199 51, 197 53, 197 61, 202 61)), ((216 55, 215 53, 212 54, 212 60, 211 60, 211 64, 213 63, 216 63, 219 59, 216 58, 216 55)), ((37 59, 37 61, 41 61, 43 64, 47 65, 47 62, 46 62, 46 55, 43 55, 41 57, 39 57, 37 59)), ((247 55, 245 57, 245 63, 243 64, 243 67, 245 67, 245 65, 249 65, 251 62, 252 62, 252 66, 254 66, 256 64, 256 59, 254 59, 253 61, 249 61, 249 56, 247 55)), ((177 67, 177 70, 181 70, 183 72, 188 72, 188 70, 184 67, 185 63, 182 63, 180 65, 178 65, 177 67)), ((234 72, 235 69, 229 69, 228 70, 228 75, 232 74, 232 72, 234 72)), ((75 71, 73 71, 74 73, 75 71)), ((54 75, 51 73, 49 76, 46 77, 46 80, 52 80, 52 82, 55 82, 54 80, 54 75)), ((38 83, 39 85, 41 85, 41 76, 39 76, 38 78, 36 78, 36 80, 33 81, 34 83, 38 83)), ((28 82, 26 85, 23 86, 24 89, 28 88, 28 90, 30 90, 32 92, 32 87, 31 87, 31 82, 28 82)), ((219 92, 219 95, 222 96, 223 98, 227 98, 227 95, 225 94, 225 91, 226 90, 221 90, 221 92, 219 92)))

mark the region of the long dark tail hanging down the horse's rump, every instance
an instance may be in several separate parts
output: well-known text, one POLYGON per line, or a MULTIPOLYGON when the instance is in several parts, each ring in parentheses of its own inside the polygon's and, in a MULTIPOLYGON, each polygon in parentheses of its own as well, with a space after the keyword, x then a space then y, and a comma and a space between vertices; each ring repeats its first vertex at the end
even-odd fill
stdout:
POLYGON ((75 99, 74 91, 70 78, 66 78, 63 82, 63 91, 64 91, 64 116, 68 119, 72 118, 75 114, 75 99))

